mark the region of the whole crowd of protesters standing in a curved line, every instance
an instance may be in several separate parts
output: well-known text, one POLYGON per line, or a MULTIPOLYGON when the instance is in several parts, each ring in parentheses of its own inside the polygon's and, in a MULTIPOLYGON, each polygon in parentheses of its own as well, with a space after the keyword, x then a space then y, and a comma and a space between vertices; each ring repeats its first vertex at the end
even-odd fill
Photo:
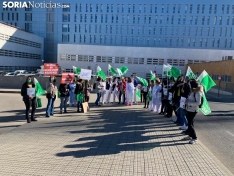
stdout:
MULTIPOLYGON (((27 77, 21 89, 21 95, 26 106, 27 122, 36 121, 34 115, 36 110, 36 98, 27 95, 27 88, 33 88, 35 84, 32 78, 27 77), (31 118, 29 117, 30 106, 32 107, 31 118)), ((185 81, 180 76, 174 79, 148 80, 147 84, 142 84, 134 77, 107 78, 105 81, 100 77, 90 85, 88 81, 78 79, 72 83, 60 84, 57 86, 56 77, 52 76, 46 84, 46 117, 53 116, 54 102, 60 98, 60 113, 67 113, 67 104, 77 106, 77 112, 83 112, 83 102, 89 102, 90 91, 97 94, 96 106, 105 104, 124 104, 133 106, 142 102, 145 109, 152 113, 164 115, 167 118, 173 116, 174 123, 181 126, 183 133, 188 135, 190 144, 197 142, 194 129, 194 117, 199 106, 202 104, 203 87, 195 79, 185 81), (139 93, 140 92, 140 97, 139 93), (138 96, 137 96, 138 95, 138 96), (182 100, 185 100, 184 103, 182 100)))

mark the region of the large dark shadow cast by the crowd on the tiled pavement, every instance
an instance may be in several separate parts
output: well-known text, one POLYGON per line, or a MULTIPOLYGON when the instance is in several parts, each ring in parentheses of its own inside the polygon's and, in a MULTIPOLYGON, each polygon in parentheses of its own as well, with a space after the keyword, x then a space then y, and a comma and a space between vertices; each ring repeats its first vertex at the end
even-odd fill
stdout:
POLYGON ((188 141, 178 140, 182 135, 180 131, 175 133, 176 130, 171 129, 175 125, 160 115, 139 109, 100 109, 92 113, 100 115, 88 117, 86 129, 67 131, 71 134, 82 133, 81 136, 87 133, 87 137, 78 138, 73 141, 74 144, 64 146, 71 151, 57 153, 57 156, 79 158, 188 144, 188 141), (173 134, 170 134, 171 131, 173 134))

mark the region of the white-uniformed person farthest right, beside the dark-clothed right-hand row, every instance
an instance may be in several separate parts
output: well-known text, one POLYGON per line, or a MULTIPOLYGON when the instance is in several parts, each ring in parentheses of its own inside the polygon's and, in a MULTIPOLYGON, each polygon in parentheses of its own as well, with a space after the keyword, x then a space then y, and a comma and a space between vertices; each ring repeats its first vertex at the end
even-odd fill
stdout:
POLYGON ((153 87, 153 91, 152 91, 152 101, 153 101, 153 109, 151 111, 154 111, 156 113, 160 113, 161 110, 161 82, 160 79, 157 78, 156 80, 156 84, 153 87))

